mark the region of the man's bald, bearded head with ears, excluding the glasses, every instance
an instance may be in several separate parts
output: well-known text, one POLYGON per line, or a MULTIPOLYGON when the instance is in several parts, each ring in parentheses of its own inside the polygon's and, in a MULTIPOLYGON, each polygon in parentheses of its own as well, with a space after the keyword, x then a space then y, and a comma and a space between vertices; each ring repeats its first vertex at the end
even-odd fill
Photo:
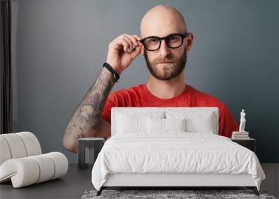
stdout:
MULTIPOLYGON (((166 37, 169 34, 186 34, 186 22, 178 10, 171 6, 151 8, 140 24, 141 37, 166 37)), ((158 50, 149 51, 142 46, 147 68, 158 80, 172 80, 183 76, 187 62, 187 51, 192 45, 193 35, 183 38, 179 47, 171 48, 166 41, 160 42, 158 50)))

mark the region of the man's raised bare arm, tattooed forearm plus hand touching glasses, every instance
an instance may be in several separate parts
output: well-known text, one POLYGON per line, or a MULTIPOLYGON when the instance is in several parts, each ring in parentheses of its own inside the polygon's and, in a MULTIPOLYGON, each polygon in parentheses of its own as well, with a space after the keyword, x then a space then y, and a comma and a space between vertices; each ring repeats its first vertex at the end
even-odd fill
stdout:
MULTIPOLYGON (((114 71, 121 74, 140 54, 142 44, 139 43, 139 40, 140 37, 128 34, 122 34, 112 40, 108 47, 106 62, 112 66, 114 71)), ((78 138, 94 137, 102 129, 100 116, 114 83, 112 73, 104 67, 66 127, 63 146, 70 152, 77 153, 78 138)))

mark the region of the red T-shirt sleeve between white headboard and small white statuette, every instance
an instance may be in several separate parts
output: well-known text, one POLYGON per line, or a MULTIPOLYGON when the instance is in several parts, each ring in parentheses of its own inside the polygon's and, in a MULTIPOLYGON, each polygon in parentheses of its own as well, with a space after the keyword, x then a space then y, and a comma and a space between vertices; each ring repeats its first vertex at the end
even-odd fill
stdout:
POLYGON ((223 103, 223 108, 219 116, 219 135, 232 138, 232 131, 238 131, 238 124, 232 112, 230 112, 227 105, 223 103))

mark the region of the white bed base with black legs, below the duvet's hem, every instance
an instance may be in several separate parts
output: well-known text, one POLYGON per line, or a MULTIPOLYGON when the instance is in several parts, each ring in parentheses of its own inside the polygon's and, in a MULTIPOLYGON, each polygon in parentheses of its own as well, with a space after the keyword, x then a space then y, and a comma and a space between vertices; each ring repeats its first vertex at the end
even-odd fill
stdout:
POLYGON ((248 174, 189 174, 189 173, 116 173, 107 175, 103 189, 252 189, 259 196, 252 175, 248 174))

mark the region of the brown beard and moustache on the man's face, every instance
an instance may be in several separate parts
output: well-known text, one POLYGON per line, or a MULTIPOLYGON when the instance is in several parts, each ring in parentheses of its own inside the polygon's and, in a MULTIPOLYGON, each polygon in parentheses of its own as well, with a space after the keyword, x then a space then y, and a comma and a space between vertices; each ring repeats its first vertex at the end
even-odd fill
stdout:
POLYGON ((158 58, 150 62, 146 55, 146 50, 144 51, 144 58, 147 68, 149 68, 149 71, 154 76, 154 78, 158 80, 172 80, 173 78, 176 78, 186 66, 187 52, 185 52, 185 54, 183 54, 180 58, 168 54, 165 59, 158 58), (158 63, 165 61, 172 61, 172 63, 168 64, 167 66, 157 66, 158 63), (163 67, 163 73, 158 71, 158 67, 163 67))

